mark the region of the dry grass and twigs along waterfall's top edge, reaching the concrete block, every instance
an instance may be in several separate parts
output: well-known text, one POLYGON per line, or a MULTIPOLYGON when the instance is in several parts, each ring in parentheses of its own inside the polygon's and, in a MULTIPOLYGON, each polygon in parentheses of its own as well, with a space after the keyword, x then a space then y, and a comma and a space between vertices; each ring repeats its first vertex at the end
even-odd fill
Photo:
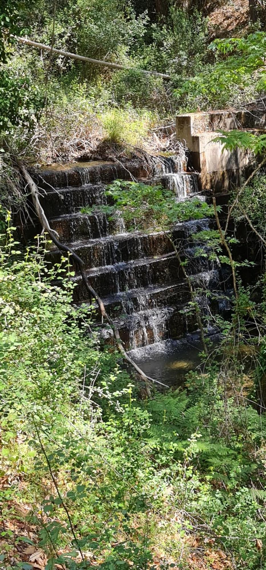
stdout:
POLYGON ((22 144, 28 164, 128 157, 136 149, 150 154, 180 150, 174 123, 159 120, 154 112, 114 107, 97 112, 89 102, 74 103, 66 99, 44 109, 30 140, 22 144))

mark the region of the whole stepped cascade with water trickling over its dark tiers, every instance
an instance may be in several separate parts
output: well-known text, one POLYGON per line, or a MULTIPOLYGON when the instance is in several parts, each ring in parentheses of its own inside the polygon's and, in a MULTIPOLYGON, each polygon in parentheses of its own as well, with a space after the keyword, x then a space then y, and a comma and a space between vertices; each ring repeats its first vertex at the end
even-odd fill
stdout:
MULTIPOLYGON (((51 227, 86 263, 88 279, 103 298, 127 349, 147 347, 195 331, 196 316, 190 308, 188 283, 168 233, 128 233, 122 218, 110 220, 99 210, 108 200, 106 185, 116 178, 160 184, 177 201, 198 195, 198 175, 186 172, 184 154, 151 157, 147 163, 134 159, 124 164, 91 161, 57 165, 34 176, 43 189, 42 205, 51 227)), ((206 254, 194 255, 197 243, 192 235, 210 227, 213 221, 209 219, 176 223, 172 237, 182 247, 181 259, 187 259, 186 271, 191 279, 200 287, 217 291, 219 297, 223 289, 220 264, 210 261, 206 254)), ((52 249, 47 258, 58 263, 61 253, 52 249)), ((78 267, 73 265, 74 303, 90 304, 78 267)), ((208 311, 211 301, 202 298, 199 302, 208 311)), ((111 340, 112 330, 102 325, 98 310, 95 323, 101 334, 111 340)))

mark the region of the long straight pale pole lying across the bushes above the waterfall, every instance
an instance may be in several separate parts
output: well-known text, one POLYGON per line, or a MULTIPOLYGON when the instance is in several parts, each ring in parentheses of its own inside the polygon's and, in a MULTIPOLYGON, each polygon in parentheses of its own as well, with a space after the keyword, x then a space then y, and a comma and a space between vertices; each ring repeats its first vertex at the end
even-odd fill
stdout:
MULTIPOLYGON (((118 63, 104 62, 100 59, 87 58, 84 55, 71 54, 70 51, 57 50, 57 48, 46 46, 44 43, 33 42, 33 40, 31 39, 21 38, 19 36, 16 36, 16 39, 18 40, 18 42, 26 43, 29 46, 38 47, 40 50, 51 51, 53 52, 53 54, 65 55, 67 58, 78 59, 81 62, 89 62, 89 63, 94 63, 95 65, 98 66, 111 67, 114 70, 132 71, 135 69, 133 67, 121 66, 118 63)), ((162 77, 163 79, 171 79, 170 75, 164 73, 158 73, 157 71, 147 71, 147 70, 138 70, 138 69, 135 69, 135 71, 140 71, 145 75, 155 75, 158 77, 162 77)))

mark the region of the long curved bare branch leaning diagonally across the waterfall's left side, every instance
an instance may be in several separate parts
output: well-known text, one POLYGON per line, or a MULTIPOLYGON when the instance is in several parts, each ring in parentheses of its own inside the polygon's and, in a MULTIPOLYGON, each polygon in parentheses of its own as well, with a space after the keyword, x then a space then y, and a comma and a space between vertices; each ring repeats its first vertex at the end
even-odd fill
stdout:
POLYGON ((98 304, 98 307, 100 309, 100 314, 107 321, 107 323, 110 324, 110 327, 112 328, 112 331, 114 332, 115 343, 119 349, 119 352, 122 354, 124 360, 126 360, 128 364, 130 364, 133 368, 135 368, 135 370, 136 370, 136 372, 138 372, 140 378, 142 378, 142 380, 144 380, 145 386, 146 386, 147 396, 150 397, 150 395, 151 395, 149 382, 152 382, 153 384, 159 384, 160 386, 164 386, 165 388, 169 388, 169 386, 167 386, 167 384, 163 384, 163 382, 159 382, 159 380, 154 380, 154 378, 150 378, 150 376, 147 376, 147 374, 145 374, 143 372, 143 370, 138 367, 138 364, 136 364, 134 362, 134 360, 132 360, 130 358, 130 356, 128 356, 127 352, 125 351, 125 349, 123 347, 123 343, 122 343, 122 340, 120 339, 119 331, 118 331, 118 328, 116 327, 116 324, 114 323, 114 321, 111 319, 111 317, 106 312, 106 309, 104 307, 104 303, 103 303, 102 299, 96 293, 94 288, 91 287, 91 284, 88 281, 87 273, 86 273, 86 266, 84 264, 84 261, 79 257, 79 255, 76 255, 75 251, 73 251, 71 249, 71 247, 66 246, 64 243, 61 243, 59 241, 59 239, 56 237, 56 235, 58 235, 58 234, 53 229, 51 229, 49 221, 47 220, 45 212, 43 210, 43 207, 39 201, 38 186, 35 184, 33 178, 31 178, 29 172, 27 171, 25 166, 22 164, 22 162, 19 160, 19 158, 17 156, 14 156, 14 160, 15 160, 15 163, 17 164, 27 186, 29 186, 29 188, 30 188, 31 196, 33 198, 33 204, 34 204, 37 216, 39 218, 39 221, 43 227, 43 230, 47 231, 47 234, 49 234, 50 238, 52 239, 52 241, 58 247, 59 250, 65 251, 66 253, 70 253, 72 255, 73 259, 75 259, 75 261, 78 264, 78 267, 80 269, 80 273, 82 275, 82 280, 83 280, 83 283, 84 283, 87 291, 90 293, 90 295, 92 297, 95 298, 96 303, 98 304))

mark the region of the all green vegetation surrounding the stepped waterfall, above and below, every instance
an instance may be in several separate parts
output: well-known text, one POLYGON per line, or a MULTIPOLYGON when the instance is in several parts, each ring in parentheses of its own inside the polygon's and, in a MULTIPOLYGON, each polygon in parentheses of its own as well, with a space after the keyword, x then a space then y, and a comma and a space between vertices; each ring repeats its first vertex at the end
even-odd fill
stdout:
MULTIPOLYGON (((207 10, 200 1, 0 2, 3 570, 266 570, 265 172, 232 193, 225 229, 215 200, 177 203, 170 190, 142 182, 106 189, 101 213, 122 217, 128 231, 169 238, 191 295, 186 314, 196 315, 203 343, 203 371, 178 389, 153 388, 151 398, 100 336, 94 303, 73 304, 70 257, 52 265, 46 236, 27 247, 13 226, 23 225, 26 206, 13 152, 46 163, 118 145, 147 149, 155 126, 176 111, 264 92, 260 23, 247 22, 239 38, 213 39, 207 10), (130 69, 40 53, 19 35, 130 69), (176 222, 205 217, 213 227, 191 235, 191 257, 228 270, 229 319, 202 310, 202 298, 214 304, 217 291, 194 282, 175 240, 176 222), (263 250, 248 287, 241 276, 252 262, 237 256, 235 235, 243 221, 263 250)), ((217 140, 266 164, 264 134, 221 132, 217 140)))

